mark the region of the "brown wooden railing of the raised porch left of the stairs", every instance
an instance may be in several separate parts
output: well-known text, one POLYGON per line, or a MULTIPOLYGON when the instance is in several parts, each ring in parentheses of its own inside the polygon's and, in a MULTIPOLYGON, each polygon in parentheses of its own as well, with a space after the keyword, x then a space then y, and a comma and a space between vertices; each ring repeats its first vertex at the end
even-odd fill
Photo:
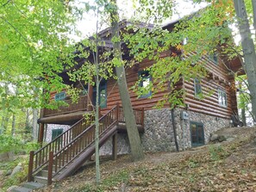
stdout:
POLYGON ((77 103, 72 103, 72 99, 64 100, 68 106, 61 106, 57 109, 44 109, 44 116, 64 115, 72 112, 83 111, 87 109, 87 96, 80 96, 77 103))

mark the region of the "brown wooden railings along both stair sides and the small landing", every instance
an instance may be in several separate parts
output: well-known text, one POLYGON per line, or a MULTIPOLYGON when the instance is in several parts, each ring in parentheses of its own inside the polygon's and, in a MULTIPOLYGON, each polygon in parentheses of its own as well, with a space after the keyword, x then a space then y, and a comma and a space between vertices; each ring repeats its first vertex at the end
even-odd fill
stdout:
MULTIPOLYGON (((137 125, 143 126, 144 109, 134 109, 137 125)), ((94 121, 91 119, 91 121, 94 121)), ((123 109, 119 105, 109 110, 109 112, 99 119, 99 138, 107 133, 119 122, 125 122, 123 109)), ((70 164, 95 141, 96 125, 82 119, 78 121, 65 133, 62 133, 47 146, 37 152, 30 152, 28 165, 28 182, 32 181, 33 174, 48 164, 48 178, 52 180, 59 171, 70 164), (49 167, 52 166, 52 167, 49 167)), ((52 181, 48 181, 52 183, 52 181)))

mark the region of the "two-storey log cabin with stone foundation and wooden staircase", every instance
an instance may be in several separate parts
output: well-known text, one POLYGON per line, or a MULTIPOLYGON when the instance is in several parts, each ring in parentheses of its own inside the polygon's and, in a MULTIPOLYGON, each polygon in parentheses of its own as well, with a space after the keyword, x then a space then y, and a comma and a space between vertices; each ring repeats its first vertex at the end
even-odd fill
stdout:
MULTIPOLYGON (((163 28, 172 31, 176 23, 170 22, 163 28)), ((120 22, 121 30, 129 24, 127 21, 120 22)), ((153 28, 153 25, 147 27, 153 28)), ((109 28, 103 30, 100 35, 107 37, 108 33, 109 28)), ((109 42, 107 38, 106 42, 109 42)), ((172 57, 172 53, 161 53, 161 57, 172 57)), ((186 90, 185 107, 182 108, 171 109, 170 103, 165 103, 163 108, 154 108, 168 93, 167 87, 152 97, 151 91, 138 97, 130 89, 139 79, 140 86, 152 81, 150 74, 145 71, 148 66, 153 65, 152 60, 144 59, 135 67, 126 69, 129 94, 145 152, 183 151, 190 147, 202 146, 209 142, 211 133, 231 125, 231 116, 237 114, 237 102, 236 90, 231 89, 235 87, 234 75, 229 71, 244 73, 240 59, 235 58, 225 63, 224 59, 214 55, 203 57, 202 61, 207 63, 205 66, 208 77, 200 80, 181 78, 178 83, 178 89, 186 90), (198 98, 198 94, 207 93, 208 90, 213 90, 210 96, 198 98)), ((78 65, 83 65, 84 59, 78 59, 77 62, 78 65)), ((63 78, 65 84, 73 84, 80 88, 80 84, 69 80, 66 71, 59 76, 63 78)), ((45 141, 47 145, 37 152, 30 153, 28 181, 49 184, 54 179, 70 176, 94 154, 95 125, 88 123, 83 115, 91 113, 91 102, 94 104, 96 101, 96 89, 91 84, 84 86, 86 94, 79 96, 77 103, 72 103, 65 90, 59 93, 51 92, 52 100, 64 101, 67 106, 41 110, 41 118, 38 121, 39 142, 45 141)), ((102 81, 99 93, 100 153, 112 154, 113 158, 116 158, 117 154, 130 152, 116 79, 102 81)))

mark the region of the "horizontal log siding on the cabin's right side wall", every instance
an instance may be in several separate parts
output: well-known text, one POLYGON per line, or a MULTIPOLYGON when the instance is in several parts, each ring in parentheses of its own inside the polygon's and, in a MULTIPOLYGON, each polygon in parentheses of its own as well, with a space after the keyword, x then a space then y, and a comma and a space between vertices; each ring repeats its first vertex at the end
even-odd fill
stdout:
POLYGON ((233 111, 237 112, 236 96, 234 90, 234 77, 228 76, 228 70, 223 65, 222 60, 218 60, 218 65, 207 58, 203 58, 200 63, 205 65, 211 77, 204 77, 201 81, 203 100, 195 97, 194 79, 184 81, 184 89, 186 90, 185 103, 189 104, 189 110, 206 115, 214 115, 230 119, 233 111), (218 89, 226 91, 228 106, 222 107, 218 100, 218 89), (209 91, 212 94, 207 96, 209 91))

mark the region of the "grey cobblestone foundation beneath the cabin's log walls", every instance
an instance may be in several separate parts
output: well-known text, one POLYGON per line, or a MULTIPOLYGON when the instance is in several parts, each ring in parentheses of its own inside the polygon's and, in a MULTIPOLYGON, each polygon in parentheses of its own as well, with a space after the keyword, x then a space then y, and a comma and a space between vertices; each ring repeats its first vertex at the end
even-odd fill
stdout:
MULTIPOLYGON (((209 143, 211 133, 229 127, 230 121, 215 116, 203 115, 186 110, 187 120, 181 120, 181 112, 184 109, 174 109, 174 124, 177 133, 178 148, 180 151, 191 147, 190 121, 203 123, 204 143, 209 143)), ((64 131, 69 126, 50 124, 47 126, 46 141, 51 141, 52 130, 63 128, 64 131)), ((176 151, 174 130, 172 124, 172 110, 169 108, 152 109, 145 111, 144 119, 145 133, 140 133, 141 144, 144 152, 174 152, 176 151)), ((118 154, 130 152, 127 133, 117 134, 118 154)), ((112 139, 109 139, 100 148, 100 155, 110 155, 112 153, 112 139)))

